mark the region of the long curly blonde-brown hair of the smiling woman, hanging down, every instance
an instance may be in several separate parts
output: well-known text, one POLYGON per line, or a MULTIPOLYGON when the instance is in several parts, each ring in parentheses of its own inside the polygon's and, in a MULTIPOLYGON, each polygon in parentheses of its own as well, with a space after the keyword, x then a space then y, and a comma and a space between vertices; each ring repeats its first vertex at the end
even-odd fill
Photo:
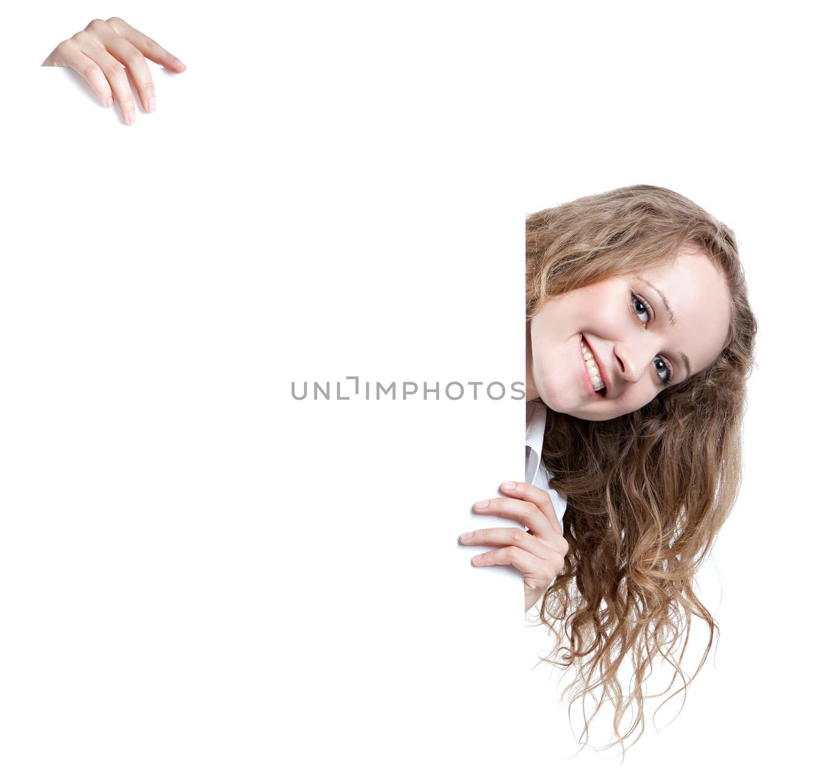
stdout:
POLYGON ((644 731, 644 683, 654 659, 672 667, 667 691, 678 675, 683 681, 665 701, 681 691, 685 698, 719 636, 693 575, 737 499, 757 323, 733 232, 669 189, 624 187, 526 219, 527 320, 550 297, 669 261, 685 244, 700 246, 728 285, 731 323, 720 355, 620 418, 585 421, 548 408, 542 449, 550 487, 567 497, 570 544, 541 600, 540 625, 554 632, 549 655, 558 660, 542 661, 575 670, 563 697, 570 692, 568 710, 581 701, 583 746, 605 702, 614 708, 615 738, 600 749, 620 744, 622 758, 625 741, 637 731, 628 743, 635 744, 644 731), (709 638, 687 680, 681 662, 693 616, 709 638), (622 662, 632 667, 627 694, 622 662), (595 702, 589 716, 588 698, 595 702), (628 713, 632 723, 622 732, 628 713))

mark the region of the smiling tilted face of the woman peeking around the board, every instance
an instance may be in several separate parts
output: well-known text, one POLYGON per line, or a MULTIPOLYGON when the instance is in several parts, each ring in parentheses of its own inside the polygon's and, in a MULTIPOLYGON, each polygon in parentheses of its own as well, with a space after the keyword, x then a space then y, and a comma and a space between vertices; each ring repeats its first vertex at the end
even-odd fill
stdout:
POLYGON ((589 421, 631 413, 664 380, 678 384, 717 358, 729 304, 717 268, 689 246, 672 264, 551 297, 528 325, 527 398, 589 421))

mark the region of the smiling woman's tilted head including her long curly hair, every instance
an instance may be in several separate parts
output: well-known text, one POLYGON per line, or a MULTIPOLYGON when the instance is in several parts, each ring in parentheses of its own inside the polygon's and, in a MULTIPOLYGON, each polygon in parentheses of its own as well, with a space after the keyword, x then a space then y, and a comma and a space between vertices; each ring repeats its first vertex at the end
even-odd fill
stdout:
POLYGON ((715 639, 693 575, 737 497, 756 319, 733 232, 646 185, 529 216, 525 303, 528 400, 547 422, 539 466, 567 501, 569 549, 539 611, 560 655, 544 660, 576 670, 573 701, 601 689, 584 732, 609 701, 623 749, 643 733, 654 657, 685 692, 715 639), (709 638, 687 681, 693 616, 709 638))

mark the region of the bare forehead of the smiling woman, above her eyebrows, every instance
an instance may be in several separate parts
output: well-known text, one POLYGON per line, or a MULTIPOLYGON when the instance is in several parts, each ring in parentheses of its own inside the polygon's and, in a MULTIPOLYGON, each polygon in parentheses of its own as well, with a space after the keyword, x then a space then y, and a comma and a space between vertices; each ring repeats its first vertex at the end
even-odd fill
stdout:
POLYGON ((674 262, 651 267, 638 276, 659 289, 672 308, 675 324, 670 327, 663 302, 655 295, 657 309, 663 310, 666 319, 663 332, 667 332, 669 345, 685 351, 693 372, 708 367, 725 345, 731 305, 724 277, 711 259, 687 246, 674 262))

